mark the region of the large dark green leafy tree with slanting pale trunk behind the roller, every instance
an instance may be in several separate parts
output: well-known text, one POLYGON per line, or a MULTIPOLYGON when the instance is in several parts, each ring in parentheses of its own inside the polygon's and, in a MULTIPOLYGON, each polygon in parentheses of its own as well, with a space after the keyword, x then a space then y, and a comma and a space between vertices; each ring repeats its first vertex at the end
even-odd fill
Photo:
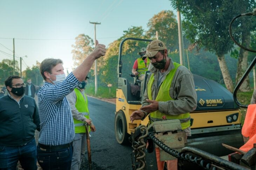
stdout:
MULTIPOLYGON (((191 43, 214 52, 217 56, 223 80, 229 91, 234 90, 234 85, 224 58, 234 46, 228 32, 228 26, 237 15, 241 5, 239 0, 170 0, 175 9, 180 10, 184 16, 184 32, 191 43)), ((244 0, 245 2, 245 0, 244 0)), ((234 27, 237 27, 234 24, 234 27)), ((241 34, 234 29, 234 37, 241 34)))

